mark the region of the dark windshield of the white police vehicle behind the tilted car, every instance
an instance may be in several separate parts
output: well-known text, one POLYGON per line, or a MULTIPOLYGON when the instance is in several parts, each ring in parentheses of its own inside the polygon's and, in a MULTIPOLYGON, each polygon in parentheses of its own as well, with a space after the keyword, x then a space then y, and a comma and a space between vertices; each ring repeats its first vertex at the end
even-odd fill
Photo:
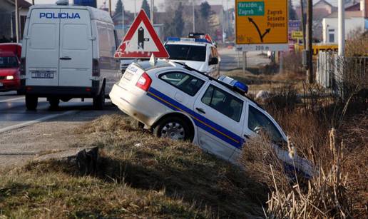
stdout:
POLYGON ((205 46, 166 44, 165 48, 173 60, 205 61, 205 46))

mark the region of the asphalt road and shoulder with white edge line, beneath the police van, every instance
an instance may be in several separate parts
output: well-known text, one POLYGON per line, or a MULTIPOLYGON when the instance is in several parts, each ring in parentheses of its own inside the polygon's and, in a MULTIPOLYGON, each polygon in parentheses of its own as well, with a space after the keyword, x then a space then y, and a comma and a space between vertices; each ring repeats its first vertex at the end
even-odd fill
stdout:
POLYGON ((0 93, 0 170, 44 154, 83 147, 86 140, 72 137, 76 128, 111 113, 120 111, 108 99, 103 111, 94 110, 91 99, 81 102, 78 98, 61 102, 54 111, 46 98, 39 98, 37 111, 27 111, 24 96, 17 96, 16 92, 0 93))

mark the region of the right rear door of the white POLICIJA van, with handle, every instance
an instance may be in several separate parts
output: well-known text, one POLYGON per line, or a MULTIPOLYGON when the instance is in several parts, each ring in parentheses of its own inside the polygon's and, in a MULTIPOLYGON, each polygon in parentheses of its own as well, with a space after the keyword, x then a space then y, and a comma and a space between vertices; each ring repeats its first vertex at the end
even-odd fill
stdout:
POLYGON ((92 32, 89 12, 61 9, 60 15, 59 86, 91 87, 92 32))

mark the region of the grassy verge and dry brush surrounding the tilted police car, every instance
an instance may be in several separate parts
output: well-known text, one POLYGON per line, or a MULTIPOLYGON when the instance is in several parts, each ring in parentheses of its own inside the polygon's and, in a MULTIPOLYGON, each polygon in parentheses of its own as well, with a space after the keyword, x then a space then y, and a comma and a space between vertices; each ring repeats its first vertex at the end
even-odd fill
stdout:
POLYGON ((298 71, 228 76, 251 96, 268 92, 260 102, 289 136, 285 149, 311 161, 315 178, 287 178, 267 136, 247 141, 235 166, 102 116, 75 132, 93 140, 78 146, 99 148, 96 171, 81 174, 68 159, 4 170, 0 218, 367 218, 367 87, 346 100, 298 71))

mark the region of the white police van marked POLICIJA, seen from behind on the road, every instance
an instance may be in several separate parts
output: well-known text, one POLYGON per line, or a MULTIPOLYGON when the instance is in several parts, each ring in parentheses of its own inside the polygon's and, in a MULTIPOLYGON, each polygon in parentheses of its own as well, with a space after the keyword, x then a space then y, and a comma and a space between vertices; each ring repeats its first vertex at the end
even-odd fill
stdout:
POLYGON ((121 77, 111 16, 89 6, 34 5, 29 9, 21 54, 22 91, 26 108, 38 98, 51 107, 71 98, 93 98, 103 108, 121 77))

